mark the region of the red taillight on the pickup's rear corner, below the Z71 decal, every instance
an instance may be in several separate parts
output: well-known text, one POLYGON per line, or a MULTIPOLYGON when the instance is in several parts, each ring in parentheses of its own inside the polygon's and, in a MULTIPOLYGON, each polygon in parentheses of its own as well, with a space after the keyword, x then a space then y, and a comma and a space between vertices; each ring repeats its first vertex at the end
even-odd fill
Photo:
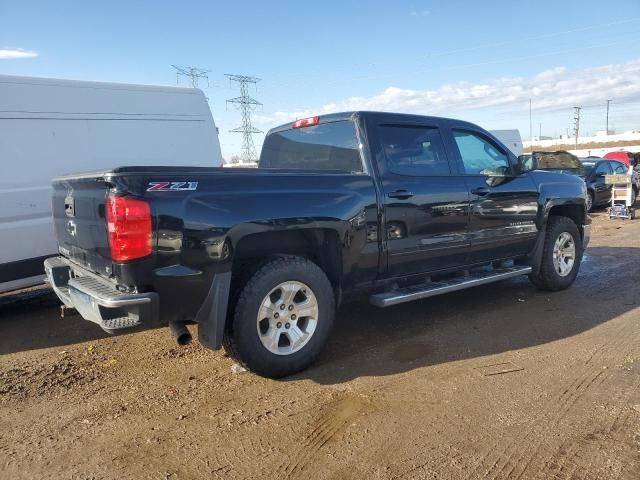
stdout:
POLYGON ((106 214, 113 261, 133 260, 151 253, 151 208, 147 202, 108 196, 106 214))

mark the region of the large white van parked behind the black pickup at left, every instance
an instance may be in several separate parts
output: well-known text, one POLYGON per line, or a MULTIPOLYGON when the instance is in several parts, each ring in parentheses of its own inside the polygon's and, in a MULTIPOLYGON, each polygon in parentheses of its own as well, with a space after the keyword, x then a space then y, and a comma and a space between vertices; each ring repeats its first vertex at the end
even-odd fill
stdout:
POLYGON ((0 292, 58 251, 51 179, 122 165, 221 166, 202 91, 0 75, 0 292))

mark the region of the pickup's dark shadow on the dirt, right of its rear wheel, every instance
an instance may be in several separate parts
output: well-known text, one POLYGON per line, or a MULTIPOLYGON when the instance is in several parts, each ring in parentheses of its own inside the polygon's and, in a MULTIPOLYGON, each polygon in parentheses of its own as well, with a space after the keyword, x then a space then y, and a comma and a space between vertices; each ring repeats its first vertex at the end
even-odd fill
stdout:
POLYGON ((561 292, 523 277, 386 309, 345 306, 316 365, 284 381, 339 384, 569 338, 640 306, 639 265, 640 248, 593 247, 561 292))

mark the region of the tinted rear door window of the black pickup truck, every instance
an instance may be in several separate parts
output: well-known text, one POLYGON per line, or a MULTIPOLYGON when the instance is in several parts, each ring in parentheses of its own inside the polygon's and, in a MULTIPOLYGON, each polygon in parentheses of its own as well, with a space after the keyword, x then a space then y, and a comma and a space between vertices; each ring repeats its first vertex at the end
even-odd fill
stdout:
POLYGON ((383 125, 379 131, 390 172, 422 177, 451 174, 437 128, 383 125))

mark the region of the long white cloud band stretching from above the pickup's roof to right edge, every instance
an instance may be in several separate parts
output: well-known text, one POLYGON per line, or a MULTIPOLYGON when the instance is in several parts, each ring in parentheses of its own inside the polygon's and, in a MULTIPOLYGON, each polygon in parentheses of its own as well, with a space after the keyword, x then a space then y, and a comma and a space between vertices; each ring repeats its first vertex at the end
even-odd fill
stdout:
POLYGON ((517 106, 528 108, 529 98, 537 111, 603 103, 607 99, 640 99, 640 59, 570 71, 565 67, 545 70, 530 78, 498 78, 486 83, 459 82, 433 90, 389 86, 369 97, 350 97, 319 108, 277 111, 256 116, 261 124, 350 110, 380 110, 423 115, 517 106))

